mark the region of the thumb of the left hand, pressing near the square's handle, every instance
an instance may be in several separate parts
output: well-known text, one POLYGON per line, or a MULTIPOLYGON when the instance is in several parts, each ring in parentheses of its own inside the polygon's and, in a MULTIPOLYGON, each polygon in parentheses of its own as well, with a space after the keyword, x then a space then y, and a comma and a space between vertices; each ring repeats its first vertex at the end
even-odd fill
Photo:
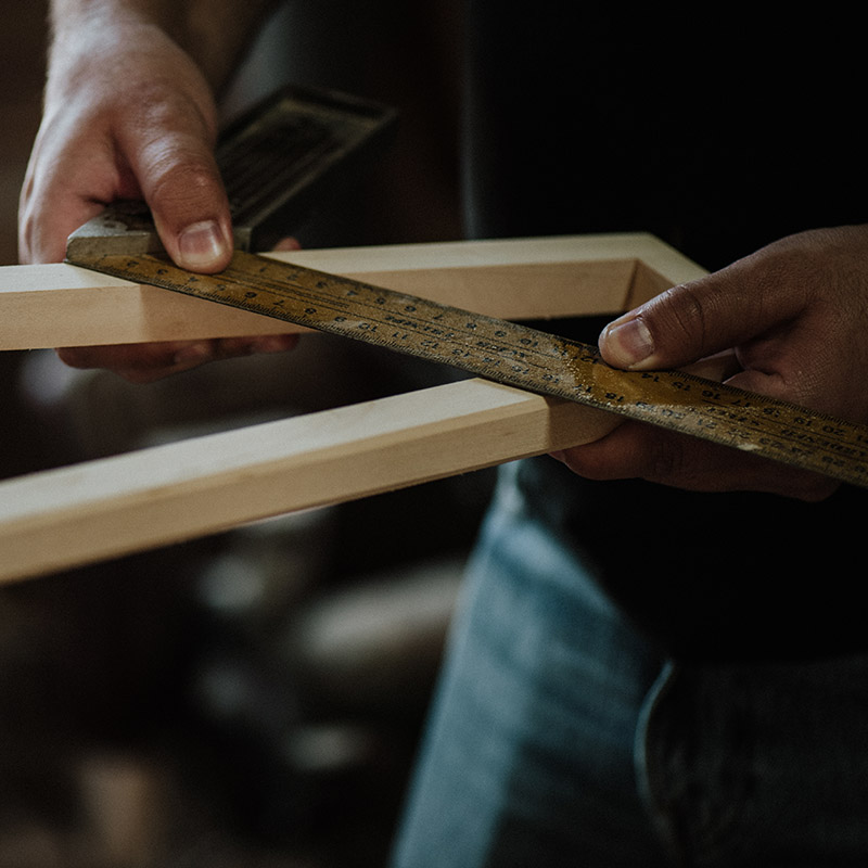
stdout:
POLYGON ((205 125, 169 114, 127 152, 171 259, 191 271, 226 268, 232 257, 232 224, 205 125))

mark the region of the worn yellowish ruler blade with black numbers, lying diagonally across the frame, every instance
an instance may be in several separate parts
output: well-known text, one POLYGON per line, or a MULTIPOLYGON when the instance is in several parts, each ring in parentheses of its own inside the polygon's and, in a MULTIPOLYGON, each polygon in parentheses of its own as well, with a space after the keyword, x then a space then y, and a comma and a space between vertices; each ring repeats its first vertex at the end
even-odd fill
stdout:
POLYGON ((690 373, 617 370, 597 347, 520 323, 241 252, 214 276, 191 275, 152 255, 72 261, 868 487, 866 426, 690 373))

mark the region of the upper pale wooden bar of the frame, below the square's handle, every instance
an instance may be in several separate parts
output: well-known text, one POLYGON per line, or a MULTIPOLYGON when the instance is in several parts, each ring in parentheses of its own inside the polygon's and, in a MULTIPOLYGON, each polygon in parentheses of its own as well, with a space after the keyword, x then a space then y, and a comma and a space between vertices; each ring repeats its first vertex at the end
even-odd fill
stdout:
MULTIPOLYGON (((607 314, 701 273, 650 235, 270 254, 503 319, 607 314)), ((0 349, 231 337, 296 327, 74 266, 0 267, 0 349)))

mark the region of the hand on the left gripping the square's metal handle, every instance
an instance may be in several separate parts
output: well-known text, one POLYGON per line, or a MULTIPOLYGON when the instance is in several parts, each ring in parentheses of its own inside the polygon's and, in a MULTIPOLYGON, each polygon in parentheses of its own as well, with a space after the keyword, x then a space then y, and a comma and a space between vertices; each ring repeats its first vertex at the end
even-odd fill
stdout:
MULTIPOLYGON (((56 15, 43 117, 22 190, 21 260, 62 260, 72 231, 115 200, 143 199, 179 266, 221 270, 231 259, 232 229, 214 159, 216 131, 209 82, 157 22, 128 7, 87 21, 56 15)), ((294 336, 269 335, 74 347, 59 355, 73 367, 146 382, 294 343, 294 336)))

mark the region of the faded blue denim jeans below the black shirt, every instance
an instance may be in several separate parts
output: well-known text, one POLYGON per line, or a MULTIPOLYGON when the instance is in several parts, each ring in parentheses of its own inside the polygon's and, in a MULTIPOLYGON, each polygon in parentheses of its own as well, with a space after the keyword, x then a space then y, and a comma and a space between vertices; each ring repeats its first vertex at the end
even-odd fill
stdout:
POLYGON ((868 658, 666 660, 501 471, 396 868, 868 865, 868 658))

